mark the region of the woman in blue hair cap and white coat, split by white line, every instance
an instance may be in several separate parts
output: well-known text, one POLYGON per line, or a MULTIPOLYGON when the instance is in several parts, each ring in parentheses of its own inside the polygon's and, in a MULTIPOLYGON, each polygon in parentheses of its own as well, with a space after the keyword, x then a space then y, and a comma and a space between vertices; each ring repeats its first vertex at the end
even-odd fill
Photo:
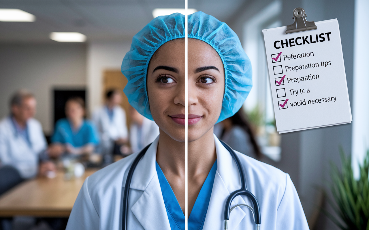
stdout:
MULTIPOLYGON (((225 200, 241 187, 230 153, 213 134, 251 89, 251 64, 237 35, 197 12, 188 17, 188 229, 223 229, 225 200)), ((157 17, 134 36, 122 64, 133 107, 160 128, 130 184, 127 229, 184 229, 184 16, 157 17), (147 90, 146 90, 147 88, 147 90)), ((86 179, 67 229, 122 229, 125 180, 138 153, 86 179)), ((308 229, 297 192, 282 171, 237 153, 259 200, 262 229, 308 229)), ((232 204, 249 203, 236 197, 232 204)), ((125 226, 123 226, 125 227, 125 226)), ((228 229, 255 228, 235 208, 228 229)), ((123 228, 124 229, 124 228, 123 228)))

